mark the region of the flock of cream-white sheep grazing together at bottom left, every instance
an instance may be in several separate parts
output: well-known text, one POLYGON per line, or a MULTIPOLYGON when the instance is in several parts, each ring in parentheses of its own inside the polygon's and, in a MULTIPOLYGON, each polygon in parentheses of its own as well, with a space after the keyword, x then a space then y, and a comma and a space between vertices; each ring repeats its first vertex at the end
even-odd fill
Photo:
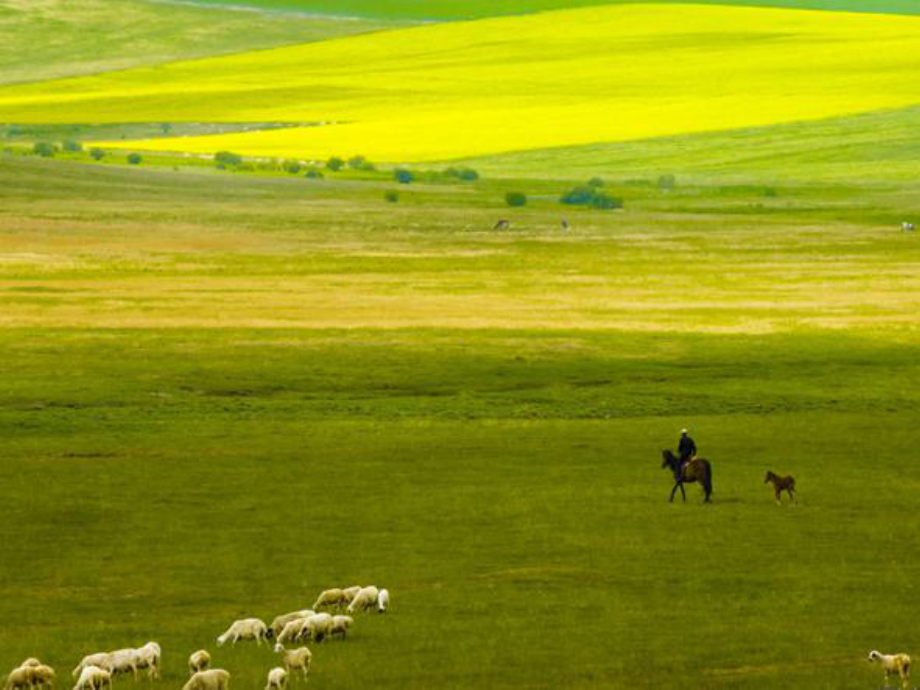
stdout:
MULTIPOLYGON (((217 646, 227 642, 235 645, 240 641, 255 641, 261 645, 263 641, 275 638, 275 652, 281 655, 281 666, 268 672, 265 690, 284 690, 288 678, 298 671, 303 680, 307 680, 313 660, 313 654, 306 646, 287 649, 286 644, 319 643, 336 636, 344 639, 354 623, 351 614, 367 611, 385 613, 389 607, 390 593, 386 589, 373 586, 328 589, 319 595, 312 609, 278 616, 270 626, 258 618, 234 621, 217 638, 217 646)), ((73 677, 77 679, 74 690, 111 690, 112 681, 117 676, 130 673, 137 680, 141 671, 146 671, 148 678, 157 679, 160 677, 161 658, 162 650, 156 642, 148 642, 138 649, 90 654, 83 657, 73 670, 73 677)), ((224 669, 212 669, 211 655, 206 649, 192 653, 188 669, 190 678, 183 690, 227 690, 229 687, 230 673, 224 669)), ((53 688, 54 680, 54 669, 30 658, 10 672, 3 690, 53 688)))

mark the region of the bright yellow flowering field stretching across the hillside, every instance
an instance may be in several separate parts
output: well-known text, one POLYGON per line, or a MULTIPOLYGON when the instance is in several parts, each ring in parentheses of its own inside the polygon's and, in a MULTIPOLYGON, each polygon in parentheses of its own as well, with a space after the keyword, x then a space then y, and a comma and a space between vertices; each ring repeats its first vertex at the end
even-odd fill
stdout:
POLYGON ((325 122, 132 149, 417 162, 920 102, 920 17, 618 5, 0 89, 6 122, 325 122))

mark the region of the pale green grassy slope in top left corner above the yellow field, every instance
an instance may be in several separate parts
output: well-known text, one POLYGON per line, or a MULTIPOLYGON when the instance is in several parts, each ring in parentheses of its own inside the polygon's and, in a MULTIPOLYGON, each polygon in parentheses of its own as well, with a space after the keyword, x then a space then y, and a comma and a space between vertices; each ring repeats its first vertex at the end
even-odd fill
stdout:
POLYGON ((0 0, 0 84, 306 43, 392 26, 148 0, 0 0))

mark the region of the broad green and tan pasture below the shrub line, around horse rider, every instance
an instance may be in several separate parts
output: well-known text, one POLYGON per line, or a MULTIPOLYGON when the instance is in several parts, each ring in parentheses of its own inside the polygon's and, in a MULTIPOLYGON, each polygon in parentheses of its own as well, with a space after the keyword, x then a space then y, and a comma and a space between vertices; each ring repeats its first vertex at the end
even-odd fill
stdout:
POLYGON ((353 581, 394 610, 311 687, 863 688, 916 653, 915 183, 611 180, 567 234, 562 184, 0 157, 0 667, 154 638, 176 687, 353 581), (710 507, 666 502, 685 425, 710 507))

